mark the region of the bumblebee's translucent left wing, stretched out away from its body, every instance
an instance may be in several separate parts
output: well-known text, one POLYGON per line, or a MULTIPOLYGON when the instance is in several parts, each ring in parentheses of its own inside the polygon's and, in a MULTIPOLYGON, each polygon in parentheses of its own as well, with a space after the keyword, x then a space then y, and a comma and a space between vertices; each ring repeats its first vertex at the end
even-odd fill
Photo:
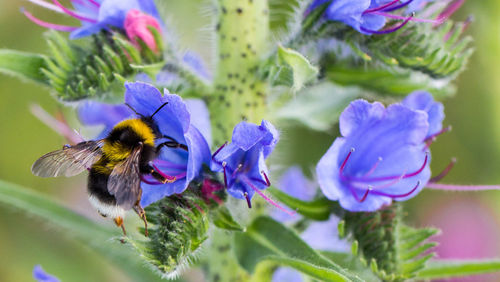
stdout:
POLYGON ((41 156, 31 172, 41 177, 74 176, 90 168, 101 156, 104 140, 85 141, 41 156))

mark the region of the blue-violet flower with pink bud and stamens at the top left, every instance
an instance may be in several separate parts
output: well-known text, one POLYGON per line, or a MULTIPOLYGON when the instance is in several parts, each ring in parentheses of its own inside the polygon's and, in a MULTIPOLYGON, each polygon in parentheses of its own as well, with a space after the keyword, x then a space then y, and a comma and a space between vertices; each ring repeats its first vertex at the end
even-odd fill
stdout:
MULTIPOLYGON (((26 15, 26 17, 28 17, 28 19, 40 26, 60 31, 71 32, 71 39, 89 36, 103 29, 109 29, 110 27, 118 28, 119 30, 125 32, 125 20, 127 17, 131 17, 129 19, 129 24, 127 25, 127 32, 130 31, 132 35, 141 37, 141 34, 137 34, 137 29, 134 29, 133 26, 130 25, 130 22, 135 22, 135 26, 141 25, 143 23, 142 19, 144 19, 144 17, 141 17, 141 20, 133 20, 134 17, 132 16, 135 16, 135 18, 137 18, 137 12, 148 15, 148 24, 153 27, 158 28, 158 26, 160 25, 159 23, 162 22, 156 6, 152 0, 71 1, 74 10, 65 7, 58 0, 52 0, 54 4, 50 4, 41 0, 35 0, 31 2, 56 12, 65 13, 73 18, 80 20, 80 27, 52 24, 42 21, 34 17, 31 13, 22 9, 22 12, 26 15), (152 24, 153 21, 156 21, 156 23, 152 24)), ((145 35, 144 32, 142 32, 142 35, 145 35)), ((130 39, 134 40, 134 38, 130 39)), ((148 44, 148 42, 146 43, 148 44)), ((154 48, 152 49, 154 50, 154 48)))

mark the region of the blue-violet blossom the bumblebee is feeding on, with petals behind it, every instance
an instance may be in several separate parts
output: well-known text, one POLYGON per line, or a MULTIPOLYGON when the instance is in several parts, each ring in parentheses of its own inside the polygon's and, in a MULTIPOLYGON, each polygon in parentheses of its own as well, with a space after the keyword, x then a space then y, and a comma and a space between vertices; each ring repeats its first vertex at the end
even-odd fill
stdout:
MULTIPOLYGON (((203 164, 210 164, 210 149, 205 136, 210 136, 208 110, 199 101, 184 102, 181 97, 165 91, 162 97, 154 86, 142 82, 125 83, 125 102, 137 113, 148 116, 163 103, 168 102, 155 116, 160 133, 186 145, 188 151, 181 148, 165 148, 153 162, 162 172, 175 176, 173 183, 159 184, 145 176, 142 183, 141 205, 153 202, 176 193, 183 192, 188 184, 196 179, 203 164), (191 116, 190 112, 196 115, 191 116), (197 128, 197 125, 200 127, 197 128), (202 134, 203 132, 203 134, 202 134)), ((100 138, 121 120, 135 118, 135 114, 124 105, 108 105, 97 102, 85 102, 79 108, 79 117, 84 125, 104 125, 100 138)), ((160 139, 160 141, 163 139, 160 139)))

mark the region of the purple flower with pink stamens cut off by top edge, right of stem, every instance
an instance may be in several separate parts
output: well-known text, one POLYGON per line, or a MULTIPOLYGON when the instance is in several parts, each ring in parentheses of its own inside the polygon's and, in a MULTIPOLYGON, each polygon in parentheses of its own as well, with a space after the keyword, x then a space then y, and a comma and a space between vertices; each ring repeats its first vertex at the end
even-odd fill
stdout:
POLYGON ((404 17, 390 13, 406 7, 412 3, 412 0, 402 3, 399 0, 315 0, 309 7, 309 11, 325 3, 329 3, 325 10, 325 19, 343 22, 363 34, 391 33, 402 28, 409 21, 436 23, 435 20, 417 19, 413 15, 404 17), (387 18, 401 20, 402 23, 381 30, 387 18))

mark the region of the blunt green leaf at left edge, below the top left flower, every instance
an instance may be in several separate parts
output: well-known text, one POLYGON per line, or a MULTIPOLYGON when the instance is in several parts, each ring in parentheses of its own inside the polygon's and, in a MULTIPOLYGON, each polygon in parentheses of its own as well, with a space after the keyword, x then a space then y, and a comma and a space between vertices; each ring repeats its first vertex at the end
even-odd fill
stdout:
POLYGON ((39 54, 14 50, 0 50, 0 72, 37 83, 47 84, 41 68, 46 68, 45 58, 39 54))

